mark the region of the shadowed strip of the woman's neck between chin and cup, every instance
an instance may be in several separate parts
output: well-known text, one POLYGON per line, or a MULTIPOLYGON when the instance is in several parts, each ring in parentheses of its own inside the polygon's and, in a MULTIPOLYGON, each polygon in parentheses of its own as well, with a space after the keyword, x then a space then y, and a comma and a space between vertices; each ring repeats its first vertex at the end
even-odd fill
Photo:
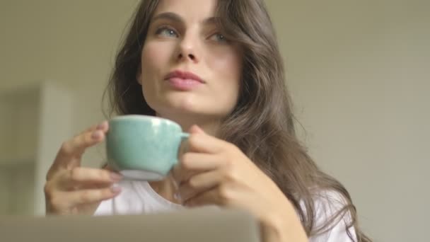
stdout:
POLYGON ((198 125, 201 129, 204 130, 207 134, 217 137, 219 126, 221 125, 221 119, 219 117, 207 117, 204 115, 190 115, 190 114, 173 114, 166 115, 157 113, 157 117, 163 117, 168 120, 172 120, 177 122, 180 127, 182 127, 182 131, 188 132, 192 125, 198 125))

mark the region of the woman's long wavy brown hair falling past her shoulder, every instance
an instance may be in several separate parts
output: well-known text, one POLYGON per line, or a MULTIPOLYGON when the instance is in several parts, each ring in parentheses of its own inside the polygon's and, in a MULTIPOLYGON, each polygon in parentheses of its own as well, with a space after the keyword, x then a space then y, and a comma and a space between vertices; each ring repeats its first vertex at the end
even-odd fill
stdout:
MULTIPOLYGON (((142 0, 129 22, 127 35, 117 53, 115 67, 105 90, 108 116, 155 115, 146 103, 136 74, 141 50, 158 0, 142 0)), ((284 64, 267 8, 262 0, 219 0, 219 26, 228 40, 243 48, 243 73, 238 103, 223 120, 219 137, 236 144, 279 186, 289 198, 308 236, 322 234, 344 219, 354 226, 358 241, 371 241, 358 226, 349 193, 335 178, 323 173, 298 141, 291 98, 286 88, 284 64), (321 191, 342 197, 342 207, 317 224, 315 200, 327 198, 321 191)), ((104 95, 105 97, 105 95, 104 95)), ((335 202, 335 201, 328 201, 335 202)), ((351 240, 353 236, 349 234, 351 240)))

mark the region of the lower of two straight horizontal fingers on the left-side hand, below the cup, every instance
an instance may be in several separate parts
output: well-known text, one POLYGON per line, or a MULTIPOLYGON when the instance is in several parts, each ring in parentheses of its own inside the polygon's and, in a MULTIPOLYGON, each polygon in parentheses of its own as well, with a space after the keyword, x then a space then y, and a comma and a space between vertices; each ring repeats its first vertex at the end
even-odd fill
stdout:
POLYGON ((77 190, 74 192, 64 192, 64 200, 68 201, 69 206, 81 204, 91 204, 93 202, 101 202, 119 195, 121 188, 117 185, 103 189, 87 189, 77 190))

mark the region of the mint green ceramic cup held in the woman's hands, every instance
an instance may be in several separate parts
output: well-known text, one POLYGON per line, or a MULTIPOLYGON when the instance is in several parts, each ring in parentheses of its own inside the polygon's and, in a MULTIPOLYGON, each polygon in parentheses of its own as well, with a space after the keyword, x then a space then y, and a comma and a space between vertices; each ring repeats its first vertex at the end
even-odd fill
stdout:
POLYGON ((109 121, 108 166, 133 180, 162 180, 178 163, 180 144, 189 134, 171 120, 123 115, 109 121))

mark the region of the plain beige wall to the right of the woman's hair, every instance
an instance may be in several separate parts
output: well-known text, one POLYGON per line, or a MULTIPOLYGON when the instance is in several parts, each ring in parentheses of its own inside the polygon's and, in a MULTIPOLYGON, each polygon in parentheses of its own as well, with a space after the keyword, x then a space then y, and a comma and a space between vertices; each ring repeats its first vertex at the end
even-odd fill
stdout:
POLYGON ((429 1, 268 1, 316 161, 378 241, 430 216, 429 1))

